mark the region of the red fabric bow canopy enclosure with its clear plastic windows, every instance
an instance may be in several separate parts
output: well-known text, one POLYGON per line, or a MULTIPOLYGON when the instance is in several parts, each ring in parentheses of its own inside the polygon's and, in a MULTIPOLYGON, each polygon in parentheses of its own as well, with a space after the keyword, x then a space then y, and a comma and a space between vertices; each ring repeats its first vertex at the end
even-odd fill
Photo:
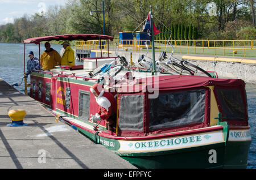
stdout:
MULTIPOLYGON (((119 135, 137 136, 210 126, 210 87, 229 125, 248 125, 245 82, 203 76, 152 76, 117 83, 119 135)), ((212 106, 212 108, 216 108, 212 106)), ((218 114, 214 114, 215 117, 218 114)), ((214 117, 214 118, 215 118, 214 117)))

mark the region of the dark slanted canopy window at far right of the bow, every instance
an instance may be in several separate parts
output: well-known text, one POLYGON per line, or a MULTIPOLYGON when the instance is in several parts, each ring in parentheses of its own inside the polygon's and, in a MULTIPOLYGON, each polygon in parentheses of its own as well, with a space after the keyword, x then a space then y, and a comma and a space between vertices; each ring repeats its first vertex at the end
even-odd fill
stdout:
POLYGON ((245 120, 245 105, 243 104, 240 89, 216 88, 216 92, 225 119, 234 121, 245 120))

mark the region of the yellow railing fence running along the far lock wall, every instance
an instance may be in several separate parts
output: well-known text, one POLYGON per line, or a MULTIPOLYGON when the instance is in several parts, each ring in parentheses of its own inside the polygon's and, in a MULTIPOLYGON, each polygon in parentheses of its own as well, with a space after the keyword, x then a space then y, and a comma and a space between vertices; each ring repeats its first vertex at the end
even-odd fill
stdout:
MULTIPOLYGON (((256 57, 256 40, 170 40, 174 46, 174 53, 180 54, 209 54, 209 55, 237 55, 243 57, 256 57)), ((102 46, 106 49, 106 42, 102 46)), ((119 40, 109 41, 109 48, 131 49, 140 52, 144 49, 144 43, 151 47, 150 40, 119 40)), ((76 49, 95 50, 100 49, 100 42, 95 41, 76 41, 76 49)), ((155 40, 155 51, 172 52, 172 46, 168 45, 167 40, 155 40)))

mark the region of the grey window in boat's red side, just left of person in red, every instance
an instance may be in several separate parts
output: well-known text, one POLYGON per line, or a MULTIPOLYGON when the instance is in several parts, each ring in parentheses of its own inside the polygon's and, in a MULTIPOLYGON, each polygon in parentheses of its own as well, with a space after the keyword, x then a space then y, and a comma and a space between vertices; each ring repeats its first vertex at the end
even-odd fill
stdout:
POLYGON ((79 91, 79 118, 89 121, 90 93, 79 91))

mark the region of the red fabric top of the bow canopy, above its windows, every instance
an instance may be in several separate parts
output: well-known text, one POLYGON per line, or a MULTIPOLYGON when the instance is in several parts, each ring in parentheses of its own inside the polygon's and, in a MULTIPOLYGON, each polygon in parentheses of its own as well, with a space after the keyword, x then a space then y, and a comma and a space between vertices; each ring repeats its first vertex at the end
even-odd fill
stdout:
POLYGON ((242 87, 245 87, 245 82, 241 79, 218 79, 187 75, 152 76, 139 79, 135 85, 131 85, 131 82, 129 83, 117 83, 117 91, 119 93, 154 92, 155 90, 168 91, 175 89, 207 87, 211 85, 218 85, 222 87, 234 87, 241 85, 242 87))

